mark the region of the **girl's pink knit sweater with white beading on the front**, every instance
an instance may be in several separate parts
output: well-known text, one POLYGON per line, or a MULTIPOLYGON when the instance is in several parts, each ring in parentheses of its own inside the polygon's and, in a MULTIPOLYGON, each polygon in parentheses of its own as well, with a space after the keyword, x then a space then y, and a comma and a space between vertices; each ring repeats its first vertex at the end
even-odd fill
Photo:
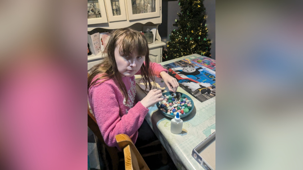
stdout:
MULTIPOLYGON (((161 78, 160 72, 167 72, 160 64, 151 63, 155 76, 161 78)), ((140 74, 140 71, 136 74, 140 74)), ((122 77, 128 92, 128 101, 113 80, 104 81, 88 89, 88 100, 103 139, 108 146, 119 148, 115 136, 127 134, 136 142, 138 129, 149 111, 141 102, 134 103, 136 94, 135 77, 122 77), (134 106, 133 106, 134 105, 134 106)))

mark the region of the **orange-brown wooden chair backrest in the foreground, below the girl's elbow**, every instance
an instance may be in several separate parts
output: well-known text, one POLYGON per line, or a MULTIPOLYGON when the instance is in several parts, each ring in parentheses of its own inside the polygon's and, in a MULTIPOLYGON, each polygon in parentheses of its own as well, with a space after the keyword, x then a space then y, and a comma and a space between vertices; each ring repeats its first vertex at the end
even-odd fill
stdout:
POLYGON ((119 134, 115 138, 119 147, 124 151, 125 170, 149 170, 129 136, 119 134))

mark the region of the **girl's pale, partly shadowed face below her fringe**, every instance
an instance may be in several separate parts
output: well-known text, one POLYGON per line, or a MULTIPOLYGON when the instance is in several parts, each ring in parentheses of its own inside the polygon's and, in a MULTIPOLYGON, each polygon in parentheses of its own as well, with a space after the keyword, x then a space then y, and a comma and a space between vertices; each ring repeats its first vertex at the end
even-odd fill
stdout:
POLYGON ((132 54, 125 56, 123 51, 120 51, 120 45, 118 45, 115 47, 115 59, 118 71, 122 77, 131 77, 140 70, 145 56, 138 56, 137 51, 133 51, 132 54))

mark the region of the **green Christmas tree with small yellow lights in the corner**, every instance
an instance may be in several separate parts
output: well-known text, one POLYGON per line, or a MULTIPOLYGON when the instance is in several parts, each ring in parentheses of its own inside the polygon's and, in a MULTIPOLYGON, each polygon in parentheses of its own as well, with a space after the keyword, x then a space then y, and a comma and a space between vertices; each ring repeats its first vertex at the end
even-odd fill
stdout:
POLYGON ((181 12, 175 20, 174 29, 167 41, 167 51, 163 59, 171 60, 190 54, 210 57, 210 39, 207 38, 205 7, 202 0, 179 0, 181 12))

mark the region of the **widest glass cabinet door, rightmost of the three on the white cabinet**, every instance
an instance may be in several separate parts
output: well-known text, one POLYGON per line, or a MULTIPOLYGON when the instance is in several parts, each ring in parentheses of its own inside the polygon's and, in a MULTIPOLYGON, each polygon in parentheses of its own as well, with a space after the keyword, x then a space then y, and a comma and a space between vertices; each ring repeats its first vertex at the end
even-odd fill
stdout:
POLYGON ((160 0, 127 0, 129 20, 160 17, 160 0))

